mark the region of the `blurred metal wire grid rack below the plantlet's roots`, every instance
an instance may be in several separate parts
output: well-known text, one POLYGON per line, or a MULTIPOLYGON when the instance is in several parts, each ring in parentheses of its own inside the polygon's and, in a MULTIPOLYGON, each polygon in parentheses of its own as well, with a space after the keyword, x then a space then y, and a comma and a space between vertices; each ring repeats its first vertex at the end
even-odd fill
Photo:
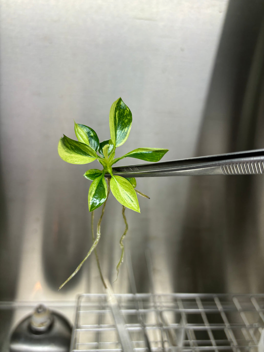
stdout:
MULTIPOLYGON (((134 352, 258 351, 264 294, 115 295, 134 352)), ((121 352, 107 295, 78 298, 72 351, 121 352)))

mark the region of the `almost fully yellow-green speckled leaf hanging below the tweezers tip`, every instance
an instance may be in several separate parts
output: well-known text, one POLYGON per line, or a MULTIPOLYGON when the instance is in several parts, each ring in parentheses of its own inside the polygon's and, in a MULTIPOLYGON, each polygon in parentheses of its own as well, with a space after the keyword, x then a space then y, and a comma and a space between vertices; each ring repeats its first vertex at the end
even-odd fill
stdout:
POLYGON ((119 203, 140 213, 137 194, 129 181, 121 176, 112 176, 110 188, 119 203))

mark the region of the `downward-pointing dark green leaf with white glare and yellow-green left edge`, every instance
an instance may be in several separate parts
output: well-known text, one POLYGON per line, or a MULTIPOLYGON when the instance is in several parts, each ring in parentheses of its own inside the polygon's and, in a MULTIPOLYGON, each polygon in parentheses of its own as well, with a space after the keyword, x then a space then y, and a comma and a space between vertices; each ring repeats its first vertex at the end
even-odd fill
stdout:
POLYGON ((88 193, 89 212, 99 208, 106 200, 107 184, 104 176, 105 173, 91 183, 88 193))

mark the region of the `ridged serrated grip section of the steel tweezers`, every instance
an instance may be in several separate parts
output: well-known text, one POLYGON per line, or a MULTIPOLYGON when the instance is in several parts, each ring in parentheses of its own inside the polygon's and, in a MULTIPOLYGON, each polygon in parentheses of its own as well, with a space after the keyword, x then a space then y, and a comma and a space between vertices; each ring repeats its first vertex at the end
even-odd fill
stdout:
POLYGON ((224 175, 258 175, 264 174, 264 162, 247 162, 221 165, 224 175))

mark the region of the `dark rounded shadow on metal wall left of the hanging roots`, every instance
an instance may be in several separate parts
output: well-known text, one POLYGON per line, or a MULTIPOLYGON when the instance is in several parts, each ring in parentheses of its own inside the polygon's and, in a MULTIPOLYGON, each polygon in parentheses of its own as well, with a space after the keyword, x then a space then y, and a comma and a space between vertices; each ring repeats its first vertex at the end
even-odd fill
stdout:
MULTIPOLYGON (((67 166, 63 165, 65 169, 67 166)), ((78 171, 68 167, 64 173, 54 172, 47 194, 42 261, 46 281, 55 291, 80 264, 91 245, 87 194, 81 182, 76 182, 74 188, 68 186, 69 180, 80 177, 76 175, 78 171)), ((71 290, 80 279, 81 275, 76 275, 64 290, 71 290)))

